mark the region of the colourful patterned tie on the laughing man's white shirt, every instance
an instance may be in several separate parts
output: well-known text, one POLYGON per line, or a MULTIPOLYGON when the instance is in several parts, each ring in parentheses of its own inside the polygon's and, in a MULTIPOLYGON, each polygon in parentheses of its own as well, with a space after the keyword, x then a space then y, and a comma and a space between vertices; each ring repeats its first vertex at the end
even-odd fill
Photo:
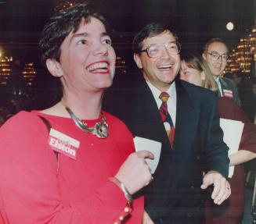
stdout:
POLYGON ((173 142, 175 139, 175 126, 173 125, 171 116, 168 112, 167 101, 169 97, 169 94, 166 92, 162 92, 159 96, 160 100, 162 101, 162 105, 160 106, 160 118, 162 119, 163 123, 168 123, 170 125, 170 130, 167 129, 166 132, 171 143, 171 148, 173 148, 173 142))

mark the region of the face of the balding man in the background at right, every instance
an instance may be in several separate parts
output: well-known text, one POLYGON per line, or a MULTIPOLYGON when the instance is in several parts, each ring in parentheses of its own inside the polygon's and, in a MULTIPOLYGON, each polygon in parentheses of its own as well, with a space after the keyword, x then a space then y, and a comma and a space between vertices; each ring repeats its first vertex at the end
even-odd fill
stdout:
POLYGON ((217 60, 212 59, 212 56, 209 54, 218 54, 218 55, 228 55, 228 49, 222 42, 213 42, 209 44, 207 52, 204 52, 203 58, 206 60, 211 73, 214 78, 220 76, 224 71, 227 62, 223 61, 222 57, 218 57, 217 60))

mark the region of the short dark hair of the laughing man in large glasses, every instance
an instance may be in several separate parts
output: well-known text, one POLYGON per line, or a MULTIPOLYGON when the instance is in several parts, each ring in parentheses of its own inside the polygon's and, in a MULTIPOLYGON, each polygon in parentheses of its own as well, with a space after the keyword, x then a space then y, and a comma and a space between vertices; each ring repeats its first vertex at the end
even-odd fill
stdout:
POLYGON ((155 37, 164 32, 170 32, 175 37, 175 41, 178 41, 178 37, 175 30, 164 23, 150 23, 143 27, 142 30, 135 35, 132 42, 132 49, 134 53, 139 53, 142 50, 142 42, 148 37, 155 37))

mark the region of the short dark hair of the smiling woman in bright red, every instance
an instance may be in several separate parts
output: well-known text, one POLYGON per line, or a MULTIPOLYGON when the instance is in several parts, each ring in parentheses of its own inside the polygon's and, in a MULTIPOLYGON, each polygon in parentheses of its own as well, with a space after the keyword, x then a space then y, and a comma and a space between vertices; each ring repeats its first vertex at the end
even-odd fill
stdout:
POLYGON ((100 20, 106 30, 108 29, 106 20, 92 8, 92 5, 79 3, 52 16, 46 23, 39 40, 42 64, 46 66, 47 59, 55 59, 59 62, 60 46, 64 39, 70 32, 78 31, 81 22, 89 23, 92 17, 100 20))

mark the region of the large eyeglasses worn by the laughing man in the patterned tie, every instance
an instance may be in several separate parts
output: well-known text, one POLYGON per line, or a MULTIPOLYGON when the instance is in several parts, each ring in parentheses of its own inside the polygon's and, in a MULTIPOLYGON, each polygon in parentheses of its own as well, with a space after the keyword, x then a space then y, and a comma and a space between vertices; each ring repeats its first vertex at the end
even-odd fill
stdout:
POLYGON ((170 41, 164 44, 151 44, 145 50, 141 50, 140 52, 146 52, 150 58, 157 58, 165 47, 170 55, 178 55, 181 51, 181 46, 182 45, 177 41, 170 41))

